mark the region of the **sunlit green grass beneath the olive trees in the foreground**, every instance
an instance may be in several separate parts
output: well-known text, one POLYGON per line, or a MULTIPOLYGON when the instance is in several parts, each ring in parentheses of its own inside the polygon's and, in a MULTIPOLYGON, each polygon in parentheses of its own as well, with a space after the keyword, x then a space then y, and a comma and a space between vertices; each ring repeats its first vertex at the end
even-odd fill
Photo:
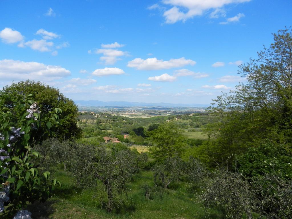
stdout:
POLYGON ((141 171, 133 176, 127 186, 130 206, 121 213, 107 213, 100 205, 100 194, 93 188, 82 190, 75 186, 74 178, 66 172, 59 171, 56 178, 62 187, 55 191, 53 197, 45 203, 28 206, 32 218, 38 219, 126 219, 126 218, 220 218, 222 215, 215 209, 206 209, 196 199, 195 192, 188 192, 186 183, 170 184, 161 197, 146 199, 142 185, 154 185, 153 173, 141 171))

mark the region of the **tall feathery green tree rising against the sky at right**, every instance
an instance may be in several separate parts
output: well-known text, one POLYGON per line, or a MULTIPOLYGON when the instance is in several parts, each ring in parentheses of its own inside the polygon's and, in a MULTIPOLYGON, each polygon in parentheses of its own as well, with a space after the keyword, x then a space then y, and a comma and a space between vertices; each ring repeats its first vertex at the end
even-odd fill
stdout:
POLYGON ((239 74, 247 79, 246 84, 239 84, 232 95, 214 100, 214 123, 204 130, 216 137, 208 143, 212 166, 244 153, 263 139, 292 143, 291 29, 273 35, 274 43, 260 51, 258 59, 240 66, 239 74))

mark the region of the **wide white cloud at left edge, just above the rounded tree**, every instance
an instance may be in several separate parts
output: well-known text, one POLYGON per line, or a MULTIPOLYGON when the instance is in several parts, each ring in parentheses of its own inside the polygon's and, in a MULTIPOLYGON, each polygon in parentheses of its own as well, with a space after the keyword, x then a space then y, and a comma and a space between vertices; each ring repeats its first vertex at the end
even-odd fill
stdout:
POLYGON ((70 71, 60 66, 45 65, 39 62, 0 60, 1 79, 54 81, 69 75, 70 71))

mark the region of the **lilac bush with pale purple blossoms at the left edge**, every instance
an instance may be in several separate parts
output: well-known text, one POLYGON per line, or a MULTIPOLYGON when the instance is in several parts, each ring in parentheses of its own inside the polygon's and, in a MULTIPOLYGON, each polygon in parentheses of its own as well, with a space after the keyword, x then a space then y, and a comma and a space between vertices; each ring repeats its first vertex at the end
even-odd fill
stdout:
POLYGON ((59 124, 58 114, 61 109, 55 108, 50 117, 41 118, 41 112, 33 95, 19 96, 16 100, 17 111, 13 114, 10 109, 0 109, 0 217, 30 218, 30 213, 21 210, 27 202, 41 199, 45 201, 51 191, 60 182, 49 180, 50 173, 39 175, 34 166, 34 159, 39 153, 33 149, 46 136, 46 131, 59 124))

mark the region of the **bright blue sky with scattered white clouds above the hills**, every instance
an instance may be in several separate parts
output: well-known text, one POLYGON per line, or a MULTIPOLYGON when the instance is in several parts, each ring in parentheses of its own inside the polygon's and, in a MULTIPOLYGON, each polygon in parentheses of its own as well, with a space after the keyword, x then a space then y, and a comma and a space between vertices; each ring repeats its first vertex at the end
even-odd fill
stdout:
POLYGON ((72 100, 209 104, 289 27, 290 0, 0 1, 0 86, 72 100))

